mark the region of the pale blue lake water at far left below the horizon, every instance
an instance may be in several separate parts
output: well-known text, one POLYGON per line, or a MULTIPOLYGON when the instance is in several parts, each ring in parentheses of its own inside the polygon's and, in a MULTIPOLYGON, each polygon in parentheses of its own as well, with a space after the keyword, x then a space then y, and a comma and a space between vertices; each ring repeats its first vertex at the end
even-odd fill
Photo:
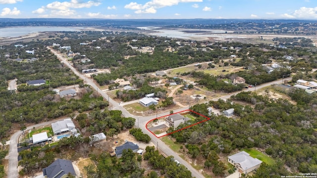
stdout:
POLYGON ((0 37, 20 37, 37 32, 81 31, 76 27, 10 27, 0 28, 0 37))

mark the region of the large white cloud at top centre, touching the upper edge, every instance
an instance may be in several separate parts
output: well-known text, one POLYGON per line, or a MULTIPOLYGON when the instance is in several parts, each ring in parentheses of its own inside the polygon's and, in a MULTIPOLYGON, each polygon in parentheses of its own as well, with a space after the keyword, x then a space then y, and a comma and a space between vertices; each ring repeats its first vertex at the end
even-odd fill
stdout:
POLYGON ((156 13, 158 8, 177 5, 181 2, 202 2, 203 0, 151 0, 145 4, 130 2, 124 8, 136 10, 135 13, 156 13))

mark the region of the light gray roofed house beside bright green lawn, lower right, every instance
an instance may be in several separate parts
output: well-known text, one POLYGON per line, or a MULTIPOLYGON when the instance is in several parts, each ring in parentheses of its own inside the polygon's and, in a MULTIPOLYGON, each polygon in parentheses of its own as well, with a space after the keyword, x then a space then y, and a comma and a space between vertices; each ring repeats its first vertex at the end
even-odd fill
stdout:
POLYGON ((240 151, 236 154, 228 156, 228 162, 236 167, 239 173, 248 174, 260 168, 262 161, 257 158, 252 158, 245 151, 240 151))

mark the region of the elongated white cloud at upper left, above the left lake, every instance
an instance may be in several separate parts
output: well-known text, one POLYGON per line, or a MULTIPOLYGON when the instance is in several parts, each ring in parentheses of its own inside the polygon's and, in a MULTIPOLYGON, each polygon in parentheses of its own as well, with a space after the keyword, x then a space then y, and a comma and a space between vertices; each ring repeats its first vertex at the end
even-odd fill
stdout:
POLYGON ((78 0, 70 0, 70 1, 54 1, 52 3, 49 3, 46 5, 46 8, 48 9, 54 9, 54 10, 66 10, 70 8, 89 8, 92 6, 98 6, 101 2, 95 2, 95 1, 88 1, 88 2, 79 2, 78 0))

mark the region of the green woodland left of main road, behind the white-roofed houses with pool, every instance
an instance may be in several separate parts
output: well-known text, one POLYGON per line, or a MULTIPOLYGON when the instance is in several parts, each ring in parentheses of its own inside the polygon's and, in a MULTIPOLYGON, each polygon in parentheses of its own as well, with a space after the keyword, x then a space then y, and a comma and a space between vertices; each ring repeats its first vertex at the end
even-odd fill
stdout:
POLYGON ((98 96, 89 87, 78 93, 81 99, 60 98, 50 89, 12 93, 10 90, 0 91, 0 139, 7 136, 12 123, 20 123, 21 117, 26 123, 40 123, 66 116, 74 111, 84 112, 95 108, 105 108, 108 102, 98 96))

